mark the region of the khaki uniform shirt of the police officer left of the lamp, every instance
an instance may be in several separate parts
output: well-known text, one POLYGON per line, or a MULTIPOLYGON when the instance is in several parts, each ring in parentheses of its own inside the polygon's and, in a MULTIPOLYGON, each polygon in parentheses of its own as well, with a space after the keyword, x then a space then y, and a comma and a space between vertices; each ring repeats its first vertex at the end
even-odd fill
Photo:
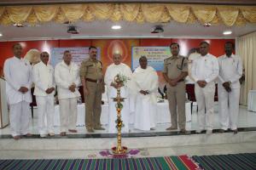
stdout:
POLYGON ((86 59, 80 67, 80 77, 90 78, 93 80, 102 80, 102 63, 99 60, 86 59))

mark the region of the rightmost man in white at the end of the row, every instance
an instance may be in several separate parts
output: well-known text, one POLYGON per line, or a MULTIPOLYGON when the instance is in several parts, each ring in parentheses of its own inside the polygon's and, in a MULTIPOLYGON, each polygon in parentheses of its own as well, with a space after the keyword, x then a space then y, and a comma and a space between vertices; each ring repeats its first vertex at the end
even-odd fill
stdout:
POLYGON ((242 63, 239 56, 232 54, 233 47, 232 42, 226 42, 225 54, 218 58, 218 112, 222 133, 228 128, 237 133, 242 63))

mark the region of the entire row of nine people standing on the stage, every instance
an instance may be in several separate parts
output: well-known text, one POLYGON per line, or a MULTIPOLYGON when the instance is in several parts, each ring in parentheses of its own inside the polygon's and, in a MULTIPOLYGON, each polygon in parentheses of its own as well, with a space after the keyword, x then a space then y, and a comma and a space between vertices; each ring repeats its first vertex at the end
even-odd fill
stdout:
MULTIPOLYGON (((239 111, 239 78, 242 74, 241 59, 232 54, 233 44, 225 43, 225 53, 218 59, 208 53, 209 44, 201 42, 200 54, 196 59, 188 59, 179 55, 179 45, 170 45, 172 56, 165 59, 163 77, 167 82, 167 99, 171 112, 172 126, 166 130, 186 131, 185 116, 185 77, 188 76, 188 65, 191 67, 191 77, 195 81, 195 96, 198 105, 197 133, 207 130, 212 133, 213 104, 215 80, 218 78, 218 101, 221 132, 229 127, 237 133, 237 116, 239 111)), ((90 47, 90 58, 85 59, 79 67, 72 62, 72 54, 65 51, 63 60, 55 65, 49 65, 49 54, 40 54, 41 61, 30 65, 21 58, 22 48, 19 43, 13 46, 15 56, 4 63, 4 77, 7 82, 7 97, 10 106, 10 127, 14 139, 29 133, 29 104, 32 102, 30 88, 34 82, 38 105, 38 131, 41 137, 53 136, 54 132, 54 94, 57 87, 60 104, 61 136, 67 131, 77 133, 77 99, 79 85, 82 83, 85 103, 85 127, 89 133, 94 130, 104 130, 100 118, 102 112, 102 94, 107 85, 108 94, 108 132, 116 133, 116 108, 113 98, 116 89, 120 88, 121 96, 125 98, 122 108, 123 132, 129 132, 129 123, 140 130, 152 130, 155 127, 157 112, 158 76, 154 68, 148 66, 148 60, 142 56, 140 66, 132 73, 131 68, 121 63, 122 56, 113 54, 113 64, 108 65, 105 77, 102 63, 96 59, 96 47, 90 47), (117 74, 127 77, 127 82, 116 84, 117 74), (131 116, 134 112, 134 116, 131 116), (46 122, 45 122, 46 121, 46 122)), ((190 71, 190 70, 189 70, 190 71)))

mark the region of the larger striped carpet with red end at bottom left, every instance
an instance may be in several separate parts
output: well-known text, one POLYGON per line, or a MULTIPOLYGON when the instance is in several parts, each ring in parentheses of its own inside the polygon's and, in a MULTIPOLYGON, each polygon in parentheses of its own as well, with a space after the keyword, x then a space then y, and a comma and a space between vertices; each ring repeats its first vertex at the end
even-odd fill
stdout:
POLYGON ((0 169, 22 170, 196 170, 198 166, 188 156, 166 156, 125 159, 73 160, 0 160, 0 169))

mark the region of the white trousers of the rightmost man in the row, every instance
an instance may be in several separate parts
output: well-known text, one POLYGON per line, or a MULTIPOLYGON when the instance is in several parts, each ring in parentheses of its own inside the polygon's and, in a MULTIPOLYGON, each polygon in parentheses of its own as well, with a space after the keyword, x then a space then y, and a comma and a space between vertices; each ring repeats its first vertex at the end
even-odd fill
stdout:
POLYGON ((236 130, 239 113, 240 88, 232 88, 228 93, 224 88, 218 87, 218 112, 222 129, 236 130))

